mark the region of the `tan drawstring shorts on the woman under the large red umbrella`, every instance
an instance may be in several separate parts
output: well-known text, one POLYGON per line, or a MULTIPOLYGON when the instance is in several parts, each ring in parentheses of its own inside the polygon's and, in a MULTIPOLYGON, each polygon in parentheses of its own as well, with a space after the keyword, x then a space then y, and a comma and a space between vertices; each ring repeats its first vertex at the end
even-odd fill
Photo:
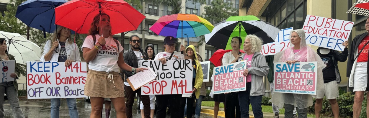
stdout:
POLYGON ((90 97, 124 97, 124 84, 118 72, 89 70, 85 83, 85 95, 90 97), (109 78, 108 75, 112 74, 109 78))

